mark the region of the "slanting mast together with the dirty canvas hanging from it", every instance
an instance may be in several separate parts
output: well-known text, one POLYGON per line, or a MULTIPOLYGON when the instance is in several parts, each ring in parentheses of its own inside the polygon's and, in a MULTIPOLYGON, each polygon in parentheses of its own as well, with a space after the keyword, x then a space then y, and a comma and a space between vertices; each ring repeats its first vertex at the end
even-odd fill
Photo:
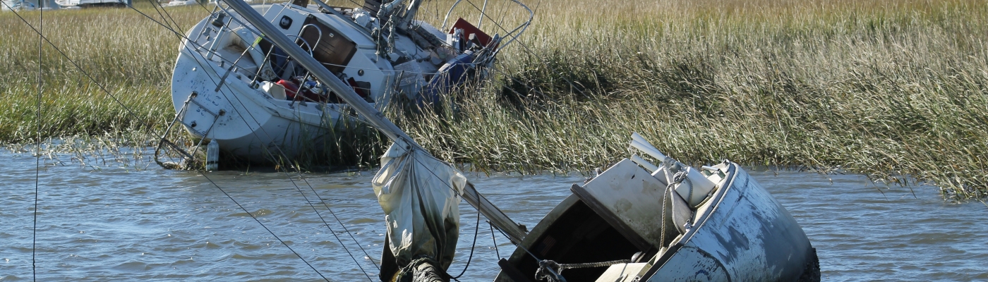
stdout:
MULTIPOLYGON (((265 39, 282 48, 300 67, 346 102, 346 106, 393 142, 382 158, 381 170, 372 182, 378 202, 384 210, 385 221, 388 222, 388 244, 385 244, 385 254, 381 261, 382 280, 390 281, 403 274, 414 274, 420 269, 445 273, 440 271, 445 271, 452 263, 458 236, 460 199, 477 208, 510 239, 518 242, 524 239, 526 230, 523 226, 513 222, 480 194, 451 164, 430 155, 407 133, 384 118, 376 105, 359 95, 351 84, 310 55, 309 50, 282 33, 281 22, 276 27, 242 0, 224 3, 241 19, 253 24, 258 34, 265 35, 265 39), (418 267, 422 265, 427 267, 418 267), (384 273, 385 271, 388 273, 384 273)), ((430 277, 444 280, 443 275, 430 277)))

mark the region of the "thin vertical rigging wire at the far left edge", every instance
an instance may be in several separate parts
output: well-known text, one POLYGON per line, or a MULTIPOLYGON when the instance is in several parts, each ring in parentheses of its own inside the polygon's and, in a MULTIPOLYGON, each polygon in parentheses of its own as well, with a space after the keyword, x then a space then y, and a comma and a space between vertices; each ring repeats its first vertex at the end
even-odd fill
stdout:
MULTIPOLYGON (((41 84, 43 82, 43 79, 41 78, 41 75, 42 75, 42 69, 41 69, 42 62, 41 62, 41 59, 43 58, 43 49, 42 48, 44 47, 44 40, 43 40, 43 36, 42 36, 43 35, 42 32, 44 31, 44 9, 43 9, 44 8, 44 4, 43 4, 43 2, 44 1, 38 1, 39 5, 41 5, 41 7, 40 7, 41 8, 40 9, 41 12, 38 14, 38 17, 40 18, 38 25, 39 25, 39 29, 41 30, 41 31, 38 32, 38 109, 37 109, 38 110, 38 113, 37 113, 37 115, 35 117, 35 121, 38 122, 37 129, 36 129, 37 131, 35 132, 35 133, 38 134, 38 139, 35 140, 36 141, 36 147, 35 147, 35 150, 36 150, 36 153, 35 153, 35 212, 34 212, 35 226, 32 228, 32 235, 31 235, 31 278, 34 281, 38 281, 38 270, 37 270, 36 253, 37 253, 37 244, 38 244, 38 198, 39 198, 38 192, 40 190, 39 189, 39 178, 41 176, 41 84)), ((4 5, 6 5, 6 4, 4 4, 4 5)), ((13 12, 14 10, 11 9, 11 11, 13 12)), ((18 17, 20 17, 20 16, 18 16, 18 17)))

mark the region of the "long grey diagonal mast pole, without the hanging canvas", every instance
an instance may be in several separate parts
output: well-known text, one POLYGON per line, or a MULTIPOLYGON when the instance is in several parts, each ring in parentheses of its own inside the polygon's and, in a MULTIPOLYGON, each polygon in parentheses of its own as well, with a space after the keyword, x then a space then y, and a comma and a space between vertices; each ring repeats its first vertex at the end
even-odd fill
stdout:
MULTIPOLYGON (((319 61, 316 61, 315 58, 302 50, 301 47, 296 45, 294 41, 288 38, 288 36, 282 34, 282 32, 275 28, 275 26, 271 25, 271 23, 268 23, 264 16, 257 13, 257 11, 255 11, 254 8, 251 8, 250 5, 245 3, 243 0, 224 0, 224 2, 226 2, 231 9, 239 13, 244 20, 253 24, 255 28, 261 31, 263 37, 271 40, 276 45, 281 47, 288 53, 289 56, 294 58, 298 64, 312 73, 312 75, 319 79, 319 81, 325 83, 330 90, 337 94, 340 99, 343 99, 343 101, 347 102, 347 105, 352 106, 355 111, 363 115, 374 127, 377 128, 377 130, 380 130, 384 133, 384 135, 387 135, 391 141, 394 141, 400 146, 404 146, 407 150, 422 150, 422 152, 428 153, 428 151, 416 143, 412 137, 408 136, 405 131, 402 131, 397 125, 394 125, 394 123, 390 120, 384 118, 383 113, 368 104, 367 101, 364 101, 364 99, 358 96, 352 88, 345 85, 343 81, 340 81, 339 78, 322 66, 319 61)), ((498 209, 497 206, 481 195, 480 192, 473 187, 472 183, 467 182, 467 185, 463 188, 463 193, 461 196, 467 203, 487 217, 487 219, 490 219, 491 224, 504 231, 513 242, 516 244, 521 244, 522 240, 525 239, 527 231, 512 221, 508 215, 504 214, 504 212, 498 209)))

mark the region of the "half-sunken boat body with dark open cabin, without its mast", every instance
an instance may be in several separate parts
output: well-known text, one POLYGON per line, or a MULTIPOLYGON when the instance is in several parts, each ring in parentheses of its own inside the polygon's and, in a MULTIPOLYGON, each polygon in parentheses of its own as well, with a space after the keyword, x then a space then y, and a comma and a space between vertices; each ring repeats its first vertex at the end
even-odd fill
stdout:
POLYGON ((538 223, 495 281, 819 281, 816 250, 782 205, 730 162, 624 159, 538 223), (669 185, 672 183, 672 185, 669 185))

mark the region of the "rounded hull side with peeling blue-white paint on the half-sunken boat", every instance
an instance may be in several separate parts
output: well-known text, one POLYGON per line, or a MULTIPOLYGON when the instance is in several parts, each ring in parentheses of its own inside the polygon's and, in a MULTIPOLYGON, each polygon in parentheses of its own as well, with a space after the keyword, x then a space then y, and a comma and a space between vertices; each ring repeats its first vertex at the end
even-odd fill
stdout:
POLYGON ((816 251, 795 219, 747 172, 730 170, 716 204, 645 281, 796 281, 813 271, 816 251))

